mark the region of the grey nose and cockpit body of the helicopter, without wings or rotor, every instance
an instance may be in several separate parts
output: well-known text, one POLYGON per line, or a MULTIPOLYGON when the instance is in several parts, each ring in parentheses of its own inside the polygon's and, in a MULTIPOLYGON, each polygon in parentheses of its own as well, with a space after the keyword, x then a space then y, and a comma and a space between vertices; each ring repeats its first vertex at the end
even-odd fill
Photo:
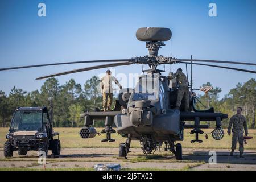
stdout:
POLYGON ((180 111, 171 109, 169 90, 166 77, 154 74, 139 77, 126 113, 114 118, 118 133, 123 136, 131 134, 138 140, 151 136, 156 142, 183 140, 180 111))

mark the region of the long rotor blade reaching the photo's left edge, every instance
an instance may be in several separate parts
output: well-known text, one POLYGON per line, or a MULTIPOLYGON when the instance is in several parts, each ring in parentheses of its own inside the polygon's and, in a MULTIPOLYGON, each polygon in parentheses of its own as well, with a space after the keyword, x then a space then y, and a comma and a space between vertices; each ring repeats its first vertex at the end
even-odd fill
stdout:
POLYGON ((79 63, 103 63, 103 62, 131 62, 132 59, 114 59, 114 60, 92 60, 92 61, 73 61, 73 62, 63 62, 63 63, 49 63, 49 64, 36 64, 36 65, 27 65, 20 67, 9 67, 9 68, 0 68, 0 71, 10 70, 10 69, 22 69, 22 68, 34 68, 34 67, 46 67, 53 65, 63 65, 63 64, 79 64, 79 63))

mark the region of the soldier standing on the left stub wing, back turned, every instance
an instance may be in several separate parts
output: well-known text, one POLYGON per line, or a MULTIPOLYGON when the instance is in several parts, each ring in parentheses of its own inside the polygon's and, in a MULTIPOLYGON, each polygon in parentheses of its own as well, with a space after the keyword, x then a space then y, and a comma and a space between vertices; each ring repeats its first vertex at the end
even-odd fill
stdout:
POLYGON ((110 109, 113 100, 113 88, 112 81, 115 82, 122 89, 122 86, 119 84, 117 79, 114 76, 111 76, 111 71, 108 69, 106 75, 101 78, 101 93, 103 96, 103 108, 104 112, 107 109, 110 109))

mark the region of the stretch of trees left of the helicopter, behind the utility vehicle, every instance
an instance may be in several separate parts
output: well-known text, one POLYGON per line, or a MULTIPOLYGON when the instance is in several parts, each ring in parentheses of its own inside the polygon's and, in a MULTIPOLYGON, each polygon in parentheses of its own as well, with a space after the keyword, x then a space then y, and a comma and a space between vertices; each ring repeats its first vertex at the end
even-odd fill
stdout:
POLYGON ((19 106, 47 106, 55 127, 83 126, 80 114, 102 105, 101 92, 97 88, 99 84, 97 76, 87 80, 84 88, 73 79, 60 85, 57 78, 49 78, 40 90, 32 92, 14 86, 7 96, 0 90, 1 126, 10 125, 11 117, 19 106))

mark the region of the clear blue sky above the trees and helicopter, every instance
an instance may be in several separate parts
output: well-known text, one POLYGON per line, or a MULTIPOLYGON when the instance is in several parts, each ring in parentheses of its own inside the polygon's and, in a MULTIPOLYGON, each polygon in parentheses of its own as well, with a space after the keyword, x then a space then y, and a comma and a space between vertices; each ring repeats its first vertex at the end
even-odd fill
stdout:
MULTIPOLYGON (((172 56, 256 63, 256 1, 0 1, 1 68, 18 65, 97 59, 126 59, 147 55, 144 42, 135 38, 139 27, 172 30, 172 56), (38 16, 38 4, 46 4, 46 17, 38 16), (209 3, 217 5, 217 17, 208 15, 209 3)), ((160 49, 170 55, 170 42, 160 49)), ((0 72, 0 90, 15 85, 23 90, 40 89, 36 77, 96 64, 61 65, 0 72)), ((225 65, 225 64, 222 64, 225 65)), ((225 65, 226 66, 226 65, 225 65)), ((255 67, 228 65, 251 69, 255 67)), ((184 65, 173 65, 185 69, 184 65)), ((141 73, 141 65, 117 67, 115 73, 141 73)), ((84 85, 105 69, 57 77, 84 85)), ((164 73, 167 75, 167 73, 164 73)), ((193 66, 193 82, 207 81, 222 88, 223 97, 238 82, 255 78, 244 73, 193 66)), ((190 78, 189 78, 190 79, 190 78)))

